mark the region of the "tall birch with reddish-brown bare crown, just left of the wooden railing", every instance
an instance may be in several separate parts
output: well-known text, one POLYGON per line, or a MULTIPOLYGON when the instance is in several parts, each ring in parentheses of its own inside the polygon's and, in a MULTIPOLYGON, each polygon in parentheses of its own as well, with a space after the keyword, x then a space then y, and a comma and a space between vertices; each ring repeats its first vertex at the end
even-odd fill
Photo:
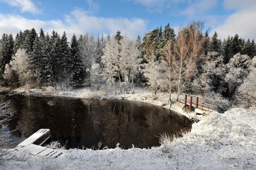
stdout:
POLYGON ((190 82, 196 69, 196 61, 200 57, 201 47, 204 42, 204 38, 201 35, 202 28, 202 23, 192 23, 182 28, 179 30, 177 40, 174 43, 175 60, 172 62, 172 67, 177 99, 190 82))

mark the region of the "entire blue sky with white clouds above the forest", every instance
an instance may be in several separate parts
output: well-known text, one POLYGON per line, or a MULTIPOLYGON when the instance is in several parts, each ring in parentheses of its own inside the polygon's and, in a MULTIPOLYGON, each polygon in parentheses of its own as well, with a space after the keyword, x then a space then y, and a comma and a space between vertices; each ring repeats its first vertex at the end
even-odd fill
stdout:
POLYGON ((167 23, 202 21, 219 38, 256 38, 256 0, 0 0, 0 34, 43 28, 70 36, 91 33, 135 38, 167 23))

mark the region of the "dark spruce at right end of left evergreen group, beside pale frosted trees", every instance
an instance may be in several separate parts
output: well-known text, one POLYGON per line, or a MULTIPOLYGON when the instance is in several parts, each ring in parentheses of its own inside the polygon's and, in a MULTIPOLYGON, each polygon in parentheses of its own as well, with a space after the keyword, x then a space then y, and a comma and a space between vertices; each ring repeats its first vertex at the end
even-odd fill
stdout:
POLYGON ((70 55, 72 58, 72 86, 81 86, 84 83, 85 70, 82 64, 82 57, 79 54, 78 41, 76 35, 72 36, 70 45, 70 55))

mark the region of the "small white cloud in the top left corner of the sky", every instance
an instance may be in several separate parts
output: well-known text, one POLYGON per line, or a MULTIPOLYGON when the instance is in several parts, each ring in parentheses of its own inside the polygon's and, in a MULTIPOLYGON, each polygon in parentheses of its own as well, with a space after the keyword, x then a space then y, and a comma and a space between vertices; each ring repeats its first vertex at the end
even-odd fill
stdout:
POLYGON ((1 0, 10 6, 20 8, 21 12, 39 13, 38 8, 30 0, 1 0))

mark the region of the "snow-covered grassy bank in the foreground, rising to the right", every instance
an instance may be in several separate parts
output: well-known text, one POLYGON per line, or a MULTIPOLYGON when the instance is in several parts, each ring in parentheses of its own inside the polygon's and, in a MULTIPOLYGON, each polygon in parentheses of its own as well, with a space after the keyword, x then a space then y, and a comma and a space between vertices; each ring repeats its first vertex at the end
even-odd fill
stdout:
POLYGON ((56 159, 9 150, 1 169, 256 169, 256 113, 212 113, 165 147, 62 150, 56 159))

